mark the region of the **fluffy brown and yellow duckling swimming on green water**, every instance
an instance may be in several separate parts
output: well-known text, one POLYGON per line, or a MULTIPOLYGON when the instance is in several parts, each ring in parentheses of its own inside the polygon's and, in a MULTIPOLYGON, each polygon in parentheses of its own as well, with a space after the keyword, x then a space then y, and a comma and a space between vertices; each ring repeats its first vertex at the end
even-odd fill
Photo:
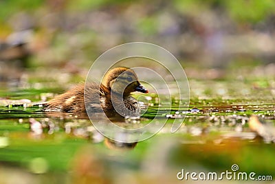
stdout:
MULTIPOLYGON (((101 84, 87 83, 86 88, 84 83, 76 85, 72 90, 49 101, 46 110, 61 112, 86 112, 89 110, 93 113, 104 110, 108 114, 110 114, 109 112, 117 114, 116 110, 124 109, 128 112, 139 112, 137 100, 131 96, 131 92, 135 91, 148 93, 148 90, 138 81, 133 70, 126 67, 113 68, 105 74, 101 84), (126 86, 125 89, 124 86, 126 86), (85 103, 88 109, 85 108, 85 103)), ((130 114, 120 115, 128 116, 130 114)))

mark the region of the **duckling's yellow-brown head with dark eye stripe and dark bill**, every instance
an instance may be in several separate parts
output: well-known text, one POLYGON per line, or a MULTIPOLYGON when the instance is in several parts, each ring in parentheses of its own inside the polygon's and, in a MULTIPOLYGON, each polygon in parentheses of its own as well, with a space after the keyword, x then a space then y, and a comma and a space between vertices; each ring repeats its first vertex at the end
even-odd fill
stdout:
POLYGON ((105 74, 102 84, 109 90, 123 96, 129 96, 131 92, 148 93, 138 81, 137 74, 130 68, 113 68, 105 74))

